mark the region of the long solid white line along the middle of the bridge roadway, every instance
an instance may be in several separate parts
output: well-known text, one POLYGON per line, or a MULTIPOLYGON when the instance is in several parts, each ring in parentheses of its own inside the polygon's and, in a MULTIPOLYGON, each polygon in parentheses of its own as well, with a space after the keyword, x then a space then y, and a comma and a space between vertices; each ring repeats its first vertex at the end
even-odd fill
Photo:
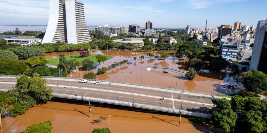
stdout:
MULTIPOLYGON (((0 82, 1 83, 1 82, 0 82)), ((12 83, 13 84, 13 83, 12 83)), ((16 83, 15 83, 16 84, 16 83)), ((51 84, 48 84, 47 86, 57 86, 57 85, 51 85, 51 84)), ((62 87, 65 87, 65 86, 62 86, 62 87)), ((68 86, 67 86, 68 87, 68 86)), ((75 88, 75 87, 73 87, 75 88)), ((76 87, 76 88, 79 88, 79 87, 76 87)), ((131 92, 120 92, 120 91, 112 91, 112 90, 102 90, 102 89, 95 89, 95 88, 83 88, 83 89, 87 89, 87 90, 97 90, 97 91, 109 91, 109 92, 115 92, 115 93, 121 93, 121 94, 129 94, 129 95, 137 95, 137 96, 143 96, 143 97, 152 97, 152 98, 162 98, 162 97, 158 97, 158 96, 151 96, 151 95, 144 95, 144 94, 134 94, 134 93, 131 93, 131 92)), ((164 98, 166 100, 172 100, 172 98, 164 98)), ((174 99, 174 101, 181 101, 180 99, 174 99)), ((213 104, 207 104, 207 103, 200 103, 200 102, 194 102, 194 101, 186 101, 186 100, 183 100, 183 102, 188 102, 188 103, 194 103, 194 104, 201 104, 201 105, 210 105, 210 106, 213 106, 213 104)))

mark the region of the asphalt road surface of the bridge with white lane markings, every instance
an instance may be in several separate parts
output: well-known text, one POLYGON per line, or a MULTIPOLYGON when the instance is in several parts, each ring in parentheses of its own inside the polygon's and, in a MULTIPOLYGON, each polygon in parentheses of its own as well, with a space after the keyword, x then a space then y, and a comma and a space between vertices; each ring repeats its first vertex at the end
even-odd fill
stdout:
MULTIPOLYGON (((68 94, 84 97, 102 98, 108 100, 134 102, 144 105, 153 105, 170 109, 181 107, 186 111, 209 114, 213 107, 213 97, 197 93, 171 91, 160 88, 148 88, 126 84, 93 84, 78 83, 78 79, 47 79, 47 87, 51 87, 53 93, 68 94), (58 84, 58 85, 57 85, 58 84), (178 98, 180 96, 180 98, 178 98), (162 100, 164 97, 164 100, 162 100), (183 100, 182 100, 183 98, 183 100)), ((0 77, 0 89, 10 90, 16 85, 15 77, 0 77)))

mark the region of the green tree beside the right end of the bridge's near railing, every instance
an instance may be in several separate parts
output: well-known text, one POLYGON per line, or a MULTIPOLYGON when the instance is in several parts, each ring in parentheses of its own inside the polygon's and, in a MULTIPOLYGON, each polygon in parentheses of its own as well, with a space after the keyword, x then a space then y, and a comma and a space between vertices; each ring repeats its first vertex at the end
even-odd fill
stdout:
POLYGON ((226 98, 213 99, 215 107, 212 111, 212 123, 219 128, 223 128, 224 131, 229 132, 231 127, 235 126, 236 113, 231 109, 230 101, 226 98))

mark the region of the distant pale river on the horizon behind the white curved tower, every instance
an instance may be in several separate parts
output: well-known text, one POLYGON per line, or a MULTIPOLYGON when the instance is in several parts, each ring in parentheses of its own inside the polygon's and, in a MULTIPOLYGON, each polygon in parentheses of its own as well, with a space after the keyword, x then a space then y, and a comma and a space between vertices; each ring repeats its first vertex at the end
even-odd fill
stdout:
MULTIPOLYGON (((22 33, 25 31, 46 31, 47 26, 37 26, 37 25, 0 25, 0 33, 7 31, 15 31, 18 28, 22 33)), ((88 30, 94 30, 95 27, 88 26, 88 30)))

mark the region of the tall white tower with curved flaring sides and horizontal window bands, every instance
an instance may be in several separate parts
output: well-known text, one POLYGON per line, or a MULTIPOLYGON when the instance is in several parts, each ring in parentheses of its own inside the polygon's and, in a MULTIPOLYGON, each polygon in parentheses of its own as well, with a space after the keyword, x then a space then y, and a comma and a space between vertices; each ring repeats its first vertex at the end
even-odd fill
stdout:
POLYGON ((49 0, 50 13, 42 43, 79 44, 92 41, 84 16, 84 4, 76 0, 49 0))

